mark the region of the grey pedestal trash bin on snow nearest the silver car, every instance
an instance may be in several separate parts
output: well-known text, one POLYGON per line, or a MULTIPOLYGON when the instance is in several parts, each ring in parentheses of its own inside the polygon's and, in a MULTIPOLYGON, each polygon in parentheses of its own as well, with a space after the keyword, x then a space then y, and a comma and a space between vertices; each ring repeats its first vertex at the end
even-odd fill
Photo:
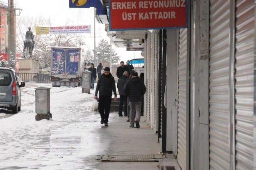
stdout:
POLYGON ((36 90, 36 120, 52 118, 50 112, 50 89, 38 87, 36 90))

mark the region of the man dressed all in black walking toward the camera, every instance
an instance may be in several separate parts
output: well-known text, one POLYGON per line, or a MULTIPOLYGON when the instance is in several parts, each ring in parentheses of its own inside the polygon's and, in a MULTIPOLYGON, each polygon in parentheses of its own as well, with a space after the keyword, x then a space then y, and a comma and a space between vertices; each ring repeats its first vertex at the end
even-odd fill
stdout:
POLYGON ((98 99, 98 91, 100 91, 100 97, 99 97, 99 112, 100 112, 100 123, 105 124, 105 126, 108 126, 108 116, 110 112, 110 104, 111 104, 111 98, 112 98, 112 92, 114 92, 116 101, 116 83, 114 80, 114 77, 110 73, 110 68, 105 67, 104 68, 104 74, 102 74, 98 80, 96 92, 95 92, 95 99, 98 99))

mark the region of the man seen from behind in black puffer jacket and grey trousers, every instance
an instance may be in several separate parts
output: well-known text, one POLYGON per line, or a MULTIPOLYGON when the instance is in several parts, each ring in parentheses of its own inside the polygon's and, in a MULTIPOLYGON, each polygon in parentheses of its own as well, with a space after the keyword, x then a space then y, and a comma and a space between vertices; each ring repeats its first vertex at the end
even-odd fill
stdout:
POLYGON ((130 127, 133 128, 135 122, 136 128, 140 128, 141 98, 146 92, 146 87, 137 72, 132 72, 132 78, 124 86, 124 92, 130 100, 130 127))

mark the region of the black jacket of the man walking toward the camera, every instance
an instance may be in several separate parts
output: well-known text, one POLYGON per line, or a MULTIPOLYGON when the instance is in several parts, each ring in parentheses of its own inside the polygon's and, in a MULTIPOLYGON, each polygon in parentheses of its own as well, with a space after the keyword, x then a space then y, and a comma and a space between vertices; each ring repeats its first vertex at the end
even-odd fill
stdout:
POLYGON ((110 73, 109 75, 102 74, 98 80, 95 96, 100 91, 100 96, 112 96, 112 92, 116 96, 116 82, 110 73))

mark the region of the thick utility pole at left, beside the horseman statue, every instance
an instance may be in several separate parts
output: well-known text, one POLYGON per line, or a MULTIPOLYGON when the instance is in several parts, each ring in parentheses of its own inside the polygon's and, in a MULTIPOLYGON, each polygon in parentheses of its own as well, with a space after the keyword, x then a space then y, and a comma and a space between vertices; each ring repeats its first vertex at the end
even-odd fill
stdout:
MULTIPOLYGON (((8 0, 8 61, 9 66, 11 66, 11 57, 16 61, 15 54, 16 54, 16 40, 14 35, 14 0, 8 0)), ((16 62, 15 62, 16 64, 16 62)), ((14 64, 14 68, 15 68, 14 64)))

